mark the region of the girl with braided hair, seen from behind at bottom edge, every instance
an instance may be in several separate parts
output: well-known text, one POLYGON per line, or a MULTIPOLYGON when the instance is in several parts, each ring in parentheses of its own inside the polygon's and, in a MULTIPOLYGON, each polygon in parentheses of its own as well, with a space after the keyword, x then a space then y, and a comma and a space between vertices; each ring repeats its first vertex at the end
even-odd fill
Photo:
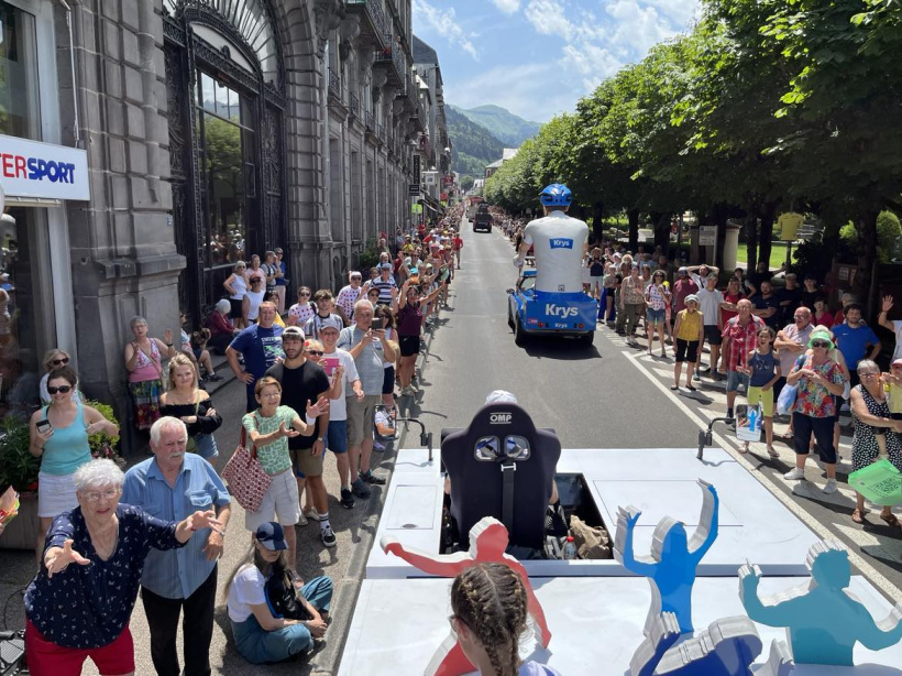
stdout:
POLYGON ((505 564, 475 564, 451 585, 451 629, 481 676, 560 676, 536 662, 520 663, 527 595, 518 573, 505 564))

